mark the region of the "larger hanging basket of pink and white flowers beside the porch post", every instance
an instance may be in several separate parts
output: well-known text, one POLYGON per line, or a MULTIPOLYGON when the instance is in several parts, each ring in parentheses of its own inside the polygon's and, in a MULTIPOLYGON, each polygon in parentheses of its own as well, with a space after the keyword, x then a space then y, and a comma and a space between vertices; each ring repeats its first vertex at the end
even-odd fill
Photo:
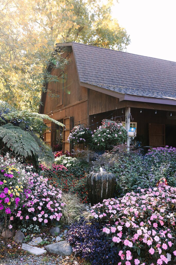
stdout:
POLYGON ((109 146, 118 145, 126 142, 127 131, 122 123, 111 120, 103 120, 102 125, 94 130, 93 148, 105 149, 109 146))

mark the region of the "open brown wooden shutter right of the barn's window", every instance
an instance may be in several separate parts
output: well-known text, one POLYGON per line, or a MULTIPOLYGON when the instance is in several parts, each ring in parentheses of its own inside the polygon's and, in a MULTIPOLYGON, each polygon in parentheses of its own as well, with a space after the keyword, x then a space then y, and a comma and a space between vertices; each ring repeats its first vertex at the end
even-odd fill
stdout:
POLYGON ((63 153, 65 151, 69 151, 71 153, 72 151, 72 145, 68 142, 68 136, 70 134, 70 131, 72 130, 72 117, 64 118, 64 131, 63 131, 63 153))

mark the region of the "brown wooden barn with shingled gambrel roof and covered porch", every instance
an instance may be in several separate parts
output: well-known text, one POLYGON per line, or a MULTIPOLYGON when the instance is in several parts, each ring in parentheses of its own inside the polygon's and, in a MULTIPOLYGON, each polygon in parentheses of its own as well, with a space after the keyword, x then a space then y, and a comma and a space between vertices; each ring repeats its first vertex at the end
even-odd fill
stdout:
POLYGON ((67 138, 75 124, 94 130, 104 118, 113 118, 126 122, 127 129, 136 127, 142 145, 176 147, 176 62, 75 42, 57 47, 64 47, 69 59, 66 78, 51 68, 58 82, 46 85, 39 112, 63 122, 65 129, 46 122, 47 143, 70 151, 67 138))

